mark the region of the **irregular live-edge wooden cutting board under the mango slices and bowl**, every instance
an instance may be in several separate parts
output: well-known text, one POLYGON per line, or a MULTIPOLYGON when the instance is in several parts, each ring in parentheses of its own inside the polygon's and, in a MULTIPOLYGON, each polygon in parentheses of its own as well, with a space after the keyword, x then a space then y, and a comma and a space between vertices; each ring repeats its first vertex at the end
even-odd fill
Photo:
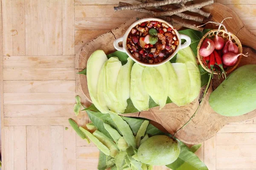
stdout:
MULTIPOLYGON (((239 16, 230 8, 227 8, 220 3, 214 3, 210 6, 204 7, 204 11, 209 11, 212 14, 212 21, 221 22, 226 17, 233 17, 233 19, 225 20, 224 25, 227 30, 235 34, 241 43, 243 44, 243 52, 248 52, 249 57, 243 57, 239 66, 246 64, 256 64, 256 36, 252 34, 247 28, 244 27, 244 23, 239 16), (246 47, 247 46, 247 47, 246 47)), ((144 16, 140 14, 136 17, 144 16)), ((106 54, 110 54, 115 50, 113 47, 113 41, 119 37, 122 37, 126 29, 136 21, 136 17, 131 18, 127 22, 123 23, 116 29, 102 34, 99 37, 84 44, 84 46, 76 54, 76 69, 77 72, 86 68, 87 59, 93 51, 102 49, 106 54)), ((214 26, 208 26, 208 28, 215 28, 214 26)), ((176 134, 176 137, 181 141, 188 144, 197 144, 207 139, 210 139, 215 133, 218 132, 224 125, 230 122, 240 122, 256 117, 256 110, 235 117, 221 116, 209 106, 208 99, 209 94, 220 84, 220 80, 213 79, 207 95, 204 101, 201 102, 201 106, 195 117, 189 122, 183 130, 180 130, 176 134)), ((86 76, 76 76, 76 91, 80 94, 82 101, 90 101, 90 95, 87 89, 86 76)), ((175 133, 180 127, 182 127, 195 113, 198 107, 198 99, 195 99, 189 105, 183 107, 177 107, 175 104, 167 104, 162 110, 159 107, 151 108, 148 111, 142 111, 138 113, 123 114, 123 116, 134 116, 151 119, 154 122, 162 125, 169 133, 175 133)), ((86 114, 86 113, 82 113, 86 114)))

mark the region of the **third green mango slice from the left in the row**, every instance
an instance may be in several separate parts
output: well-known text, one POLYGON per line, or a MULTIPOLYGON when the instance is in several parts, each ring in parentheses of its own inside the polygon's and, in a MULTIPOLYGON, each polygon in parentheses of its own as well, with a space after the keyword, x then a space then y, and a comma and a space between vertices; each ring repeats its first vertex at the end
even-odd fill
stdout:
POLYGON ((116 85, 119 71, 122 67, 122 63, 117 57, 111 57, 107 61, 106 65, 106 84, 104 88, 105 100, 108 108, 120 114, 121 111, 118 109, 118 99, 116 96, 116 85))

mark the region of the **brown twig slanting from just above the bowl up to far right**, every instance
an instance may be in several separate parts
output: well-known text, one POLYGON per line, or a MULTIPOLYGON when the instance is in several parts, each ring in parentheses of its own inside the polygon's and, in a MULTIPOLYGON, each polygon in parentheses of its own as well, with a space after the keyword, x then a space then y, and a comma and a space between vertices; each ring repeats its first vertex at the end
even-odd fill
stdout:
POLYGON ((208 0, 208 1, 205 1, 205 2, 202 2, 202 3, 197 3, 197 4, 193 4, 193 5, 189 5, 189 6, 183 6, 182 8, 174 9, 172 11, 157 12, 157 14, 154 14, 153 17, 171 16, 171 15, 178 14, 180 12, 187 11, 187 10, 190 10, 190 9, 201 8, 203 6, 207 6, 207 5, 210 5, 212 3, 214 3, 213 0, 208 0))

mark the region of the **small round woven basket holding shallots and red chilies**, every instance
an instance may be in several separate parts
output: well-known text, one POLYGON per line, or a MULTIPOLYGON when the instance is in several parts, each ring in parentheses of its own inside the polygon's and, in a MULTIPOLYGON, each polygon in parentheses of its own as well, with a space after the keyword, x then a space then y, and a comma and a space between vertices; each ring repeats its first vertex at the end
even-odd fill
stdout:
MULTIPOLYGON (((215 37, 215 35, 217 34, 217 29, 215 30, 211 30, 209 32, 207 32, 204 37, 200 40, 200 42, 198 43, 198 47, 197 47, 197 57, 198 57, 198 61, 200 62, 200 64, 202 65, 202 67, 208 71, 209 73, 212 73, 212 70, 209 69, 207 67, 207 65, 204 63, 203 58, 200 54, 199 54, 199 49, 201 48, 202 43, 204 42, 204 39, 209 38, 212 39, 215 37)), ((224 38, 225 42, 227 42, 227 40, 229 40, 229 34, 230 34, 230 40, 232 40, 233 43, 235 43, 238 46, 238 50, 239 50, 239 54, 242 53, 242 44, 240 42, 240 40, 236 37, 236 35, 229 33, 225 30, 220 30, 218 33, 219 37, 224 38)), ((228 67, 225 69, 226 73, 230 73, 233 70, 236 69, 236 67, 239 65, 239 62, 241 61, 242 56, 240 55, 238 57, 238 62, 236 63, 236 65, 232 66, 232 67, 228 67)), ((213 71, 213 74, 217 74, 217 71, 213 71)))

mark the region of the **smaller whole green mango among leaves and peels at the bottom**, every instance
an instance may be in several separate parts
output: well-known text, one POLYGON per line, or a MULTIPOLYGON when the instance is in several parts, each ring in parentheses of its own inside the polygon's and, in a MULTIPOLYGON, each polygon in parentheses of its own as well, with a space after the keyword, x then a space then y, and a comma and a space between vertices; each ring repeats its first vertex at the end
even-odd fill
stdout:
POLYGON ((180 144, 169 136, 152 136, 140 145, 137 155, 145 164, 171 164, 180 155, 180 144))

